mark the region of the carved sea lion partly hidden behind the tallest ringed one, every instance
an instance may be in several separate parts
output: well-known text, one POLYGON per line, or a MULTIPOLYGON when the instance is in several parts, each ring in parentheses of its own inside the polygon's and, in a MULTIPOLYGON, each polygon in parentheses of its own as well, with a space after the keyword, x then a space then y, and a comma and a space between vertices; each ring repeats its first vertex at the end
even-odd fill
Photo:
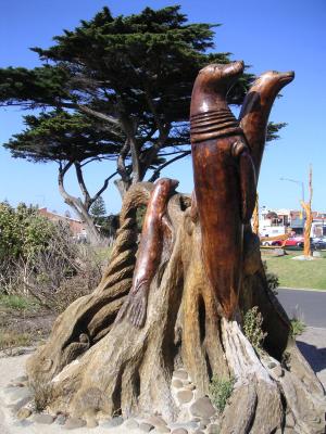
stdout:
POLYGON ((256 181, 264 153, 272 105, 280 89, 291 82, 293 78, 294 73, 292 71, 287 73, 267 71, 252 84, 244 98, 239 119, 240 127, 251 149, 256 181))

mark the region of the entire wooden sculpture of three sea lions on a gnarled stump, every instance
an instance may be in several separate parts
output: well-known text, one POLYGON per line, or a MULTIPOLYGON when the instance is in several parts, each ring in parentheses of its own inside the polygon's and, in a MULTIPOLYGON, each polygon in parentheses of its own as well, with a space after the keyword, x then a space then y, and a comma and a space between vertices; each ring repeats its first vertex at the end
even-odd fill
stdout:
POLYGON ((51 414, 89 426, 118 413, 179 421, 185 408, 171 384, 183 368, 192 398, 209 395, 213 374, 236 378, 228 405, 214 417, 221 434, 325 432, 324 390, 268 286, 250 225, 268 114, 293 74, 258 78, 237 120, 225 95, 242 69, 242 62, 209 65, 196 80, 192 197, 175 193, 174 180, 133 186, 99 286, 57 319, 28 360, 29 384, 36 394, 50 391, 51 414), (242 328, 255 306, 263 317, 258 332, 266 334, 260 350, 242 328))

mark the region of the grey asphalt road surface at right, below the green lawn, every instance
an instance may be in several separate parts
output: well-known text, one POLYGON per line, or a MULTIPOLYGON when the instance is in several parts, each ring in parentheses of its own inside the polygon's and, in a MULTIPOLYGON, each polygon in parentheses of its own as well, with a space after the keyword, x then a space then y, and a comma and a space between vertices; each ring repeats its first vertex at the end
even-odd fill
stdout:
POLYGON ((290 318, 299 318, 310 327, 326 329, 326 291, 284 290, 278 299, 290 318))

